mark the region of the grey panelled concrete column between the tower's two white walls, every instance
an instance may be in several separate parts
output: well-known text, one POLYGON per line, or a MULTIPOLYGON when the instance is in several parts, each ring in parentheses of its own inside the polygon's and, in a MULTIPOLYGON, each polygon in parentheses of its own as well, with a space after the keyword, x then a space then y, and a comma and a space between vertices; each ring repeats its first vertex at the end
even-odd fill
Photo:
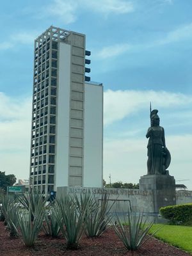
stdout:
POLYGON ((83 186, 85 36, 72 32, 67 43, 72 45, 68 186, 83 186))

